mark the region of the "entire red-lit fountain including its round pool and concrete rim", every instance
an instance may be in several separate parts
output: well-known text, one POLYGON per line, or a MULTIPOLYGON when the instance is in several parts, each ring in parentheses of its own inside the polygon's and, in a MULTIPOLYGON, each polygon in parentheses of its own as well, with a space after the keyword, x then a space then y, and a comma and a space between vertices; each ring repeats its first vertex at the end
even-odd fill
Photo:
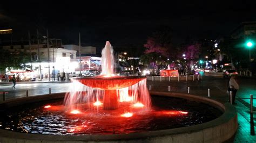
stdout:
POLYGON ((107 41, 100 75, 73 78, 68 93, 1 103, 0 142, 223 142, 237 130, 232 105, 150 93, 146 77, 114 74, 107 41))

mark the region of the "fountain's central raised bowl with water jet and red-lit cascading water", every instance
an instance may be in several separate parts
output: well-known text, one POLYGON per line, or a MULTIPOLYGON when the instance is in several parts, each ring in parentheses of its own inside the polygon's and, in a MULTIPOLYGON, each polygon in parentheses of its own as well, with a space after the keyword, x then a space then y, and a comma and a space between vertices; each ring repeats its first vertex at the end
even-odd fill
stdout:
MULTIPOLYGON (((113 48, 109 41, 102 50, 102 72, 95 77, 73 78, 73 86, 66 94, 64 104, 70 109, 78 108, 78 103, 102 103, 104 110, 118 108, 123 99, 131 103, 140 103, 150 107, 149 91, 145 76, 117 76, 114 74, 113 48), (80 84, 82 83, 82 84, 80 84), (84 92, 86 91, 86 92, 84 92), (96 97, 96 98, 95 98, 96 97)), ((98 104, 94 104, 98 105, 98 104)))

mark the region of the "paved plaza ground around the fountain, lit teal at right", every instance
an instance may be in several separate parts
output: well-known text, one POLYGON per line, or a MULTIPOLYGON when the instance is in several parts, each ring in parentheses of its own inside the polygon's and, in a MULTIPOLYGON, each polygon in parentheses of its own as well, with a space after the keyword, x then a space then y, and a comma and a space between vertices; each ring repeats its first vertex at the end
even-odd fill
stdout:
MULTIPOLYGON (((252 78, 240 77, 238 78, 240 89, 237 92, 235 108, 238 110, 238 131, 234 138, 228 140, 227 142, 256 142, 254 132, 254 124, 256 118, 255 113, 250 116, 250 94, 254 95, 256 98, 256 80, 252 78), (254 116, 254 117, 253 117, 254 116)), ((147 81, 147 86, 151 85, 151 90, 154 91, 168 91, 168 86, 170 86, 171 92, 187 92, 188 87, 190 87, 190 93, 198 96, 208 97, 208 89, 210 89, 210 94, 213 99, 218 100, 221 103, 228 101, 227 90, 228 78, 223 78, 221 74, 218 73, 205 73, 203 80, 200 81, 147 81)), ((11 83, 0 83, 0 92, 8 91, 6 94, 6 99, 24 97, 26 95, 26 90, 29 91, 29 95, 42 95, 48 94, 49 88, 51 92, 66 92, 70 86, 69 81, 65 82, 32 82, 32 83, 17 83, 16 89, 11 88, 11 83)), ((2 100, 2 95, 0 95, 2 100)), ((254 99, 254 106, 256 105, 256 100, 254 99)), ((254 110, 256 111, 256 109, 254 110)))

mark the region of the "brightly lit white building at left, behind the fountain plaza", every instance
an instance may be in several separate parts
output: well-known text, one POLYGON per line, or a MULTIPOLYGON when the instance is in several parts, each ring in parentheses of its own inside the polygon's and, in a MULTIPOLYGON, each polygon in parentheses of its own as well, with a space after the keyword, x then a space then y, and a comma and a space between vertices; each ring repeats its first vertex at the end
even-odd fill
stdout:
MULTIPOLYGON (((76 60, 77 51, 63 48, 61 42, 60 44, 59 42, 57 43, 56 39, 52 41, 49 44, 49 48, 47 48, 46 44, 32 44, 8 45, 3 46, 3 49, 10 52, 31 52, 32 69, 37 72, 37 77, 43 75, 44 78, 49 78, 49 75, 51 76, 53 73, 57 77, 60 72, 70 73, 74 71, 78 66, 78 61, 76 60), (56 41, 56 44, 54 41, 56 41)), ((31 65, 31 63, 28 63, 28 65, 31 65)))

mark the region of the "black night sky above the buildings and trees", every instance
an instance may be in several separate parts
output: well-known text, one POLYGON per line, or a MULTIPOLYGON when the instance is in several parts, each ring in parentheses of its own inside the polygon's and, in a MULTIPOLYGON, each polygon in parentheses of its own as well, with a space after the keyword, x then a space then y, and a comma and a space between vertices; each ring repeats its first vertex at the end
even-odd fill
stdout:
MULTIPOLYGON (((19 40, 36 33, 85 46, 142 47, 154 30, 170 26, 173 45, 185 38, 215 39, 241 22, 256 21, 256 1, 4 1, 0 27, 12 28, 19 40)), ((8 35, 11 37, 10 35, 8 35)))

